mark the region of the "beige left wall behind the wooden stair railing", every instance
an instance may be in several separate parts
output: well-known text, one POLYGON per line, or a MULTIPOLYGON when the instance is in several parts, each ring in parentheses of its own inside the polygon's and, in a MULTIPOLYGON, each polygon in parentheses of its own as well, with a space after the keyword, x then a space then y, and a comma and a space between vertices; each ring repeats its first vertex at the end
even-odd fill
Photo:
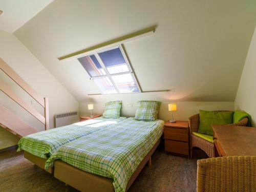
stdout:
MULTIPOLYGON (((0 31, 0 57, 41 96, 49 98, 50 128, 54 127, 54 114, 78 110, 78 102, 74 97, 13 34, 0 31)), ((43 115, 43 110, 39 104, 31 103, 33 99, 2 71, 0 72, 0 80, 43 115)), ((23 110, 3 92, 0 92, 0 104, 34 126, 38 131, 44 130, 44 126, 38 120, 23 110)), ((17 141, 16 136, 0 127, 0 149, 12 146, 17 141)))

